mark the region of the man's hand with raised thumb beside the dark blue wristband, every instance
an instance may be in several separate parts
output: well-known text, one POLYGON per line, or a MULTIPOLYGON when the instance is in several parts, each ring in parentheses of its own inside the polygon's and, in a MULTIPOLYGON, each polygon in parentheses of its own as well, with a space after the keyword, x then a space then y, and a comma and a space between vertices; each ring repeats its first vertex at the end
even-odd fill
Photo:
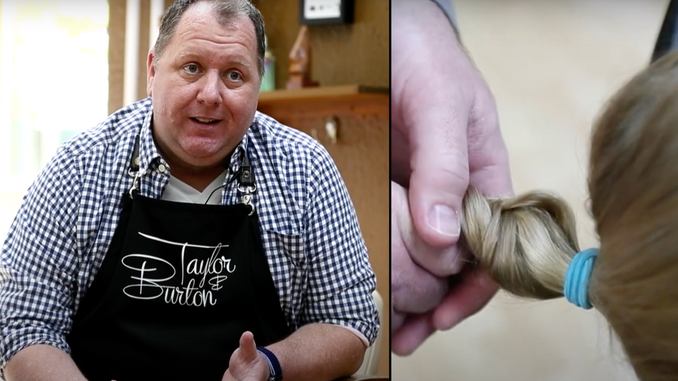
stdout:
POLYGON ((240 346, 231 355, 222 381, 266 381, 270 371, 268 363, 259 355, 252 332, 240 336, 240 346))

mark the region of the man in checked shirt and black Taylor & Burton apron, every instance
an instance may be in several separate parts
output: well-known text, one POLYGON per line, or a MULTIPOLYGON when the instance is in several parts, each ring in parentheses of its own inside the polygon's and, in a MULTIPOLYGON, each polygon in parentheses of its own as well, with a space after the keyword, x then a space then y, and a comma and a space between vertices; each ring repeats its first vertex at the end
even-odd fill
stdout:
POLYGON ((263 57, 249 1, 169 7, 151 98, 60 147, 10 228, 7 381, 358 369, 378 330, 374 273, 327 151, 256 112, 263 57))

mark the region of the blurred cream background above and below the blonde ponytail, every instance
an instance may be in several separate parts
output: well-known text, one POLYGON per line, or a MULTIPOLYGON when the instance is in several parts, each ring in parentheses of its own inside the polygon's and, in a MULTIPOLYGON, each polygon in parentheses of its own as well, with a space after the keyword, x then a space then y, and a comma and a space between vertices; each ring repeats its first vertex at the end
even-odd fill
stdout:
MULTIPOLYGON (((591 125, 650 62, 668 0, 454 0, 460 33, 496 97, 517 193, 573 205, 582 247, 591 125)), ((481 313, 391 357, 395 380, 633 381, 595 310, 499 294, 481 313)))

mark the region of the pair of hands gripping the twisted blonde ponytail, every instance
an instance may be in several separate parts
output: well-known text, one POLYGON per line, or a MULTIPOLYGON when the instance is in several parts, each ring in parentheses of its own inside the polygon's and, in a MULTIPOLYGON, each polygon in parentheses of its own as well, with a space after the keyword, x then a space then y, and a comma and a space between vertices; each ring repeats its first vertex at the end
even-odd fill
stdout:
POLYGON ((485 272, 460 266, 458 218, 469 185, 513 189, 494 99, 452 27, 452 4, 391 4, 391 349, 409 355, 496 293, 485 272))

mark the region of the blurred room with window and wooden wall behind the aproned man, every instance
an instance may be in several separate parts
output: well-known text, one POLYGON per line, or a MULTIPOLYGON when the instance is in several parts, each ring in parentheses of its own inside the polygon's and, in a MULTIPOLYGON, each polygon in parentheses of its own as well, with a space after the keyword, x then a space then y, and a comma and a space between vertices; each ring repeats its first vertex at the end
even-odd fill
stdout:
MULTIPOLYGON (((171 3, 0 0, 1 241, 60 144, 146 97, 146 56, 171 3)), ((259 110, 313 136, 336 161, 388 311, 388 0, 253 3, 268 40, 259 110), (340 2, 353 3, 352 20, 329 24, 302 12, 340 2), (306 20, 315 23, 300 41, 317 86, 292 89, 289 56, 306 20)), ((387 376, 388 334, 383 340, 374 361, 387 376)))

